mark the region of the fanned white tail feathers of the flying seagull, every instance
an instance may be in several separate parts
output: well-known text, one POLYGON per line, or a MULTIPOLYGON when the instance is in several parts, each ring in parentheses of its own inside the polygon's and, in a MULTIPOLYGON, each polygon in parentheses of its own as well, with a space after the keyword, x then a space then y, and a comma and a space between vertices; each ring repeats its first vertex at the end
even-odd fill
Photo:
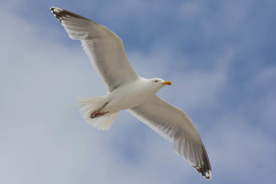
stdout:
POLYGON ((103 96, 77 98, 77 106, 80 108, 79 111, 86 122, 97 129, 108 130, 118 112, 106 113, 98 118, 90 118, 90 114, 99 108, 102 98, 103 96))

